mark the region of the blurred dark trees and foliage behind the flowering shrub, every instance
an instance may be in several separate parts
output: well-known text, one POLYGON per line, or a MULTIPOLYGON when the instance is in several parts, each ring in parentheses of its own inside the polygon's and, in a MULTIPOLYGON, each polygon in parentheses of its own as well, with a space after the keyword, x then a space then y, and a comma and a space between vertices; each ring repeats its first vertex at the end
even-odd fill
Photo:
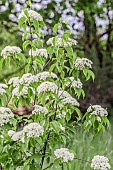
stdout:
MULTIPOLYGON (((72 37, 78 41, 75 47, 78 57, 94 62, 95 82, 83 82, 85 100, 80 99, 82 110, 89 104, 100 104, 113 110, 113 1, 112 0, 32 0, 33 8, 46 23, 45 39, 53 35, 53 26, 61 20, 70 23, 72 37)), ((0 51, 6 45, 22 48, 22 30, 17 18, 25 0, 0 1, 0 51)), ((62 30, 58 30, 62 34, 62 30)), ((27 55, 27 53, 26 53, 27 55)), ((14 63, 8 68, 0 66, 0 82, 22 73, 14 63)), ((84 81, 84 80, 83 80, 84 81)))

